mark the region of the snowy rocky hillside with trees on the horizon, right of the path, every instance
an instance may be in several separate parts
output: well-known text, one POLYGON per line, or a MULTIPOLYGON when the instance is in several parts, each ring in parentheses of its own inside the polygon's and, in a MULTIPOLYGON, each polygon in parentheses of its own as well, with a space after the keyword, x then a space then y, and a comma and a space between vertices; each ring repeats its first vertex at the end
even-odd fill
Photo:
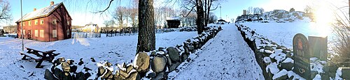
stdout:
POLYGON ((237 17, 236 22, 294 22, 298 19, 309 19, 309 17, 301 11, 273 10, 262 14, 241 15, 237 17))

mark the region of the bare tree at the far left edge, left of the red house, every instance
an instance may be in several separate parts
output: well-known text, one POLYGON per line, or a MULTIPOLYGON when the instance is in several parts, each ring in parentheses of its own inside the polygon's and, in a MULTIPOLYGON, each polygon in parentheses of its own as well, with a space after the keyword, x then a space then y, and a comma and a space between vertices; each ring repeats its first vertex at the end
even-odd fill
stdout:
POLYGON ((10 13, 10 3, 7 0, 0 0, 0 20, 1 22, 6 22, 12 19, 12 15, 10 13))

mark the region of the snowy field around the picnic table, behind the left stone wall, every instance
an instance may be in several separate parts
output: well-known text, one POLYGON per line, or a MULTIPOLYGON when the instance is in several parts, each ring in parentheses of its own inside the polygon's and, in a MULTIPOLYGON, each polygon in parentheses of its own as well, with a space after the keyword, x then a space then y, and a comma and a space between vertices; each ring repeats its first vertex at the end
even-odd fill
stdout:
MULTIPOLYGON (((174 47, 196 35, 196 31, 157 33, 155 46, 157 49, 158 47, 174 47)), ((24 43, 25 47, 55 49, 60 53, 57 57, 76 61, 80 58, 94 58, 97 61, 109 61, 114 65, 134 59, 137 35, 72 38, 55 42, 25 40, 24 43)), ((20 39, 0 37, 0 79, 43 79, 45 68, 48 66, 37 69, 33 60, 22 61, 22 56, 18 53, 22 50, 21 47, 22 40, 20 39)), ((51 63, 43 61, 41 65, 51 65, 51 63)))

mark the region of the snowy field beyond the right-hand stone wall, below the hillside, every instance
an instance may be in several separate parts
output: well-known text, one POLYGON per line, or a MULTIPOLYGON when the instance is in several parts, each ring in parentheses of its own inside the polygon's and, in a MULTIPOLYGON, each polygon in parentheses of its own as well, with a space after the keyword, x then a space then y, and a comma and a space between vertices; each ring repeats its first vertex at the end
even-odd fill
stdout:
MULTIPOLYGON (((260 22, 244 22, 239 23, 255 30, 255 33, 265 36, 269 40, 276 42, 279 45, 283 45, 289 49, 293 48, 293 37, 297 33, 302 33, 305 37, 312 36, 328 36, 328 43, 332 42, 334 34, 330 26, 327 24, 317 24, 315 22, 309 22, 307 19, 297 22, 286 23, 260 23, 260 22)), ((328 44, 328 47, 331 45, 328 44)))

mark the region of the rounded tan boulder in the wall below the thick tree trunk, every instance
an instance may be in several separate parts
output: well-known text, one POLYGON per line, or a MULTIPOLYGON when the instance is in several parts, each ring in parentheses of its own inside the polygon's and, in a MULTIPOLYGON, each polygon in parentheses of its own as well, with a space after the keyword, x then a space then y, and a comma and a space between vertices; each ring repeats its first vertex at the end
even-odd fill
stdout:
POLYGON ((135 57, 137 57, 137 60, 134 61, 134 69, 137 70, 137 72, 141 73, 148 72, 150 65, 150 56, 144 52, 140 52, 135 57))

